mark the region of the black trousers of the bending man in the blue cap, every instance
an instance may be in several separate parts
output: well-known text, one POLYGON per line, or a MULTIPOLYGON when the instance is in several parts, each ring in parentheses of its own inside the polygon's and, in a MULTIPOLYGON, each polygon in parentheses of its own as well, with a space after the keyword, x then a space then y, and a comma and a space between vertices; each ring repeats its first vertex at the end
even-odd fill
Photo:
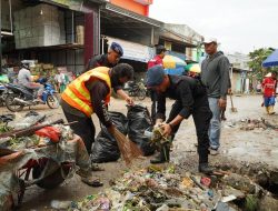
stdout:
MULTIPOLYGON (((169 118, 167 123, 173 120, 182 109, 182 104, 180 101, 176 101, 172 104, 169 118)), ((195 122, 197 139, 198 139, 198 154, 199 154, 199 163, 208 163, 208 154, 209 154, 209 137, 208 129, 209 122, 212 118, 212 113, 209 109, 208 99, 199 98, 195 100, 195 107, 192 111, 192 118, 195 122)), ((180 124, 173 128, 173 135, 178 131, 180 124)))

